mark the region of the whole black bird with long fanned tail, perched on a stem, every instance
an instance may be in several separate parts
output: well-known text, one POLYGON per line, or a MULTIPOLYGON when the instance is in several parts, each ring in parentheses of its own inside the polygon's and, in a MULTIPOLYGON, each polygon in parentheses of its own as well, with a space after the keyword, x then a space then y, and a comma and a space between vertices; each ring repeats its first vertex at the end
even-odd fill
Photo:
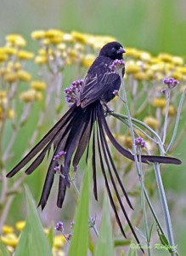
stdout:
MULTIPOLYGON (((126 190, 123 187, 121 177, 116 170, 114 161, 110 154, 110 148, 108 146, 106 135, 109 137, 110 142, 113 146, 125 157, 130 160, 134 160, 133 155, 122 148, 121 145, 113 137, 109 126, 107 125, 104 107, 107 102, 110 102, 115 95, 114 90, 119 90, 121 86, 121 78, 118 73, 111 71, 110 65, 115 60, 122 60, 122 55, 125 53, 122 45, 117 42, 105 44, 100 50, 99 56, 93 62, 93 65, 87 71, 87 76, 82 83, 80 88, 79 98, 74 102, 71 108, 65 113, 65 115, 59 119, 56 125, 48 131, 48 133, 37 143, 37 145, 31 149, 31 151, 25 155, 25 158, 14 167, 11 172, 8 172, 7 177, 13 177, 14 174, 20 171, 30 160, 31 165, 25 170, 26 174, 31 174, 35 171, 37 166, 42 163, 45 155, 48 153, 50 148, 54 146, 54 157, 48 167, 47 176, 45 178, 44 187, 42 189, 42 196, 38 206, 42 209, 46 206, 50 190, 54 183, 54 168, 58 166, 58 162, 55 156, 59 152, 64 153, 64 163, 60 166, 61 175, 59 176, 59 191, 57 206, 62 207, 66 187, 70 187, 69 171, 70 163, 76 169, 79 161, 82 158, 82 154, 87 148, 92 138, 92 166, 93 166, 93 193, 95 199, 98 200, 97 193, 97 177, 96 177, 96 147, 98 148, 100 167, 104 175, 104 182, 106 189, 110 197, 110 204, 116 214, 117 223, 120 226, 121 233, 126 237, 121 220, 116 210, 116 203, 113 199, 110 189, 110 183, 108 182, 108 176, 112 187, 116 193, 117 200, 121 206, 121 210, 127 219, 133 236, 136 241, 138 237, 132 228, 132 224, 127 217, 127 212, 121 201, 118 188, 121 189, 123 195, 125 195, 128 205, 132 208, 132 204, 127 196, 126 190)), ((124 75, 125 69, 122 69, 122 75, 124 75)), ((144 163, 149 162, 160 162, 166 164, 180 164, 181 161, 161 156, 149 156, 143 155, 142 161, 144 163)), ((139 241, 138 241, 139 242, 139 241)))

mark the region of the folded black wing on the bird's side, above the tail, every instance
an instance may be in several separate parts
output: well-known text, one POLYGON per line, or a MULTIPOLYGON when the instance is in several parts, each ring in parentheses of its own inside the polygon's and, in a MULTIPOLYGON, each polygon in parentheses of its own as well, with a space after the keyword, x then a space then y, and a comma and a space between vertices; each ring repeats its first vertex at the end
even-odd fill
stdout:
POLYGON ((94 62, 93 66, 88 70, 87 76, 82 84, 80 93, 80 102, 82 108, 87 107, 92 102, 95 102, 110 89, 110 86, 120 76, 110 70, 112 60, 108 57, 99 56, 94 62))

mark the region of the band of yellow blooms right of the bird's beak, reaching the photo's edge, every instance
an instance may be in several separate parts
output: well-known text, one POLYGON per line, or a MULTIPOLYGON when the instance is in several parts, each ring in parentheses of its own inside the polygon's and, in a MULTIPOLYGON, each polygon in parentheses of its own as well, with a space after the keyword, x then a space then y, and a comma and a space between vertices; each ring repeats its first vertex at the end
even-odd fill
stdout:
POLYGON ((126 48, 126 57, 126 73, 139 81, 162 81, 166 77, 186 81, 186 67, 180 56, 166 53, 152 56, 143 50, 126 48))

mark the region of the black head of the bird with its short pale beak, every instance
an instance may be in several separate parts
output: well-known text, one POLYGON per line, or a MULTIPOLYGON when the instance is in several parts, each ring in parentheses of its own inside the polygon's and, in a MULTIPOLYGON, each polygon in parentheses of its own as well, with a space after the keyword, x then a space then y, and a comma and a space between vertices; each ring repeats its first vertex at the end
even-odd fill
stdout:
POLYGON ((118 42, 111 42, 105 44, 104 47, 100 50, 99 56, 110 57, 112 60, 121 60, 122 55, 125 53, 125 49, 123 49, 122 45, 118 42))

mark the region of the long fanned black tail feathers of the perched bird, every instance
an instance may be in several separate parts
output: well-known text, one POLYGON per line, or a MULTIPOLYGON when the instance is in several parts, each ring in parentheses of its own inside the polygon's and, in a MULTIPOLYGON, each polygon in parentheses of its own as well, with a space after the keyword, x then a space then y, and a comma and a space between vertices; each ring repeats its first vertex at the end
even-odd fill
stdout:
MULTIPOLYGON (((128 225, 132 230, 132 234, 135 237, 136 241, 138 241, 138 236, 135 233, 135 230, 132 227, 132 224, 127 217, 127 212, 123 203, 121 201, 121 195, 119 190, 121 190, 122 195, 125 196, 127 204, 132 208, 132 204, 127 196, 127 192, 124 189, 124 186, 121 181, 121 177, 119 176, 112 156, 110 154, 110 148, 108 146, 106 136, 109 137, 110 142, 113 146, 125 157, 130 160, 134 160, 134 156, 125 148, 122 148, 120 143, 116 141, 116 138, 113 137, 109 126, 107 125, 104 109, 101 103, 93 102, 91 105, 87 106, 87 108, 83 109, 80 106, 76 107, 74 104, 65 115, 59 119, 56 125, 48 131, 48 133, 42 138, 42 140, 37 143, 37 145, 31 149, 31 151, 25 155, 24 159, 18 163, 17 166, 11 172, 8 172, 7 177, 13 177, 14 174, 20 171, 26 164, 28 164, 32 159, 32 163, 25 170, 26 174, 31 174, 34 172, 42 163, 45 155, 50 151, 52 146, 54 146, 54 155, 58 154, 60 151, 65 151, 65 161, 64 166, 60 167, 60 176, 59 176, 59 191, 57 198, 57 206, 62 207, 64 199, 66 187, 70 186, 69 181, 69 171, 70 171, 70 163, 72 161, 72 165, 76 167, 79 161, 82 158, 82 154, 87 148, 87 158, 88 151, 90 146, 92 136, 92 166, 93 166, 93 194, 96 200, 98 200, 98 189, 97 189, 97 168, 96 168, 96 143, 98 144, 98 154, 99 154, 99 162, 101 166, 102 173, 104 175, 104 183, 106 189, 108 191, 108 195, 110 198, 110 205, 113 208, 116 221, 121 229, 121 233, 126 237, 126 234, 123 230, 121 220, 119 214, 116 209, 116 204, 113 199, 110 190, 110 183, 108 182, 107 176, 110 177, 111 185, 116 193, 117 201, 121 207, 121 211, 124 217, 127 220, 128 225), (73 157, 73 160, 72 160, 73 157), (106 170, 108 173, 106 174, 106 170), (119 187, 117 187, 117 185, 119 187)), ((175 158, 170 157, 161 157, 154 155, 143 155, 142 161, 144 163, 149 162, 160 162, 166 164, 180 164, 181 161, 175 158)), ((54 167, 58 166, 58 162, 54 160, 54 156, 50 161, 48 166, 48 172, 45 178, 45 182, 42 189, 41 199, 39 201, 38 206, 41 206, 42 209, 46 206, 48 201, 48 196, 50 195, 50 191, 52 189, 54 183, 54 167)), ((132 208, 133 209, 133 208, 132 208)), ((143 250, 142 250, 143 251, 143 250)))

